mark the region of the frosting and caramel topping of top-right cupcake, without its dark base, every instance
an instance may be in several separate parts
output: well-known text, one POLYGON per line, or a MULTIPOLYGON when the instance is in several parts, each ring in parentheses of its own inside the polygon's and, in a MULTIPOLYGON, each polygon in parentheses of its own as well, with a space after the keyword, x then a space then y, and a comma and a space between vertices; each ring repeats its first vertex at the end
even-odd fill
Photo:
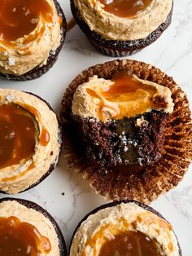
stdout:
POLYGON ((72 0, 89 29, 106 39, 146 38, 164 23, 172 0, 72 0))

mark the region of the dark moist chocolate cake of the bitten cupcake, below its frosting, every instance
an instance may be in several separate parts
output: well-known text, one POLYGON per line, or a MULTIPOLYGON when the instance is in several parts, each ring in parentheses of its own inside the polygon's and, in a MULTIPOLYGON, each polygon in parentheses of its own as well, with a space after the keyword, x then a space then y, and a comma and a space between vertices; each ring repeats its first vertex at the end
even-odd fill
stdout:
POLYGON ((89 117, 75 118, 86 158, 98 166, 111 168, 126 164, 146 166, 159 161, 167 119, 168 114, 159 111, 106 123, 89 117), (145 121, 137 126, 141 117, 145 121))

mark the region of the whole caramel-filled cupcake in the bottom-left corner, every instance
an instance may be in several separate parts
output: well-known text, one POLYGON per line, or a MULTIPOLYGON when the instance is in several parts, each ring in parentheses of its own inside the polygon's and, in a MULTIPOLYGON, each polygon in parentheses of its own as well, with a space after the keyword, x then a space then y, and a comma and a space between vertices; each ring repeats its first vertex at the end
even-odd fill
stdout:
POLYGON ((67 256, 55 219, 32 201, 0 200, 1 255, 67 256))

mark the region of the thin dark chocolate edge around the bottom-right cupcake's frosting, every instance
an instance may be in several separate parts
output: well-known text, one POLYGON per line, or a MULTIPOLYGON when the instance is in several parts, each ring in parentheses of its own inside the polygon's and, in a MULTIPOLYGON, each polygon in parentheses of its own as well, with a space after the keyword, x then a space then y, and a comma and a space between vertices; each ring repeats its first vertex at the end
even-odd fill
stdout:
MULTIPOLYGON (((150 207, 148 205, 144 205, 143 203, 141 203, 139 201, 134 201, 134 200, 113 201, 113 202, 108 203, 106 205, 101 205, 98 208, 90 211, 89 214, 86 214, 85 217, 81 219, 81 222, 78 223, 78 225, 76 226, 76 229, 75 229, 75 231, 73 232, 73 235, 72 235, 72 240, 73 240, 74 236, 76 235, 77 229, 81 226, 81 223, 83 223, 89 217, 89 215, 96 214, 99 210, 103 210, 103 209, 106 209, 106 208, 109 208, 109 207, 120 205, 121 203, 124 203, 124 204, 134 203, 134 204, 138 205, 139 207, 142 207, 144 210, 148 210, 151 213, 157 215, 159 218, 163 218, 168 223, 167 219, 164 218, 164 216, 162 216, 157 210, 153 209, 152 207, 150 207)), ((174 234, 175 234, 175 232, 174 232, 174 234)), ((175 234, 175 236, 176 236, 176 234, 175 234)), ((177 236, 176 236, 176 238, 177 238, 177 236)), ((72 247, 72 240, 71 240, 70 247, 69 247, 70 249, 72 247)), ((178 239, 177 239, 177 245, 178 245, 178 248, 179 248, 179 255, 181 256, 182 255, 181 246, 179 244, 178 239)), ((70 254, 70 250, 69 250, 69 254, 70 254)))

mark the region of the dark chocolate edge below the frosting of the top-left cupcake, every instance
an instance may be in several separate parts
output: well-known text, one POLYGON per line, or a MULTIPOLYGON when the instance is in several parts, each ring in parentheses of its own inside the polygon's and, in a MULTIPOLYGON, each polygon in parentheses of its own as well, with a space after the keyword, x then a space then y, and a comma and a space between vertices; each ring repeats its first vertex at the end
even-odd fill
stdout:
POLYGON ((41 77, 44 73, 50 70, 52 66, 55 64, 56 60, 58 59, 59 52, 61 51, 63 47, 63 43, 65 40, 66 35, 66 29, 67 29, 67 23, 65 19, 65 15, 63 13, 62 8, 59 5, 59 2, 57 0, 54 0, 56 10, 59 14, 59 16, 62 18, 63 22, 61 24, 61 41, 59 47, 55 51, 50 51, 50 55, 46 60, 46 64, 39 64, 37 67, 33 68, 32 70, 28 71, 28 73, 24 73, 21 76, 15 76, 12 74, 5 74, 0 73, 0 78, 6 78, 8 80, 15 80, 15 81, 27 81, 32 79, 37 79, 38 77, 41 77))

